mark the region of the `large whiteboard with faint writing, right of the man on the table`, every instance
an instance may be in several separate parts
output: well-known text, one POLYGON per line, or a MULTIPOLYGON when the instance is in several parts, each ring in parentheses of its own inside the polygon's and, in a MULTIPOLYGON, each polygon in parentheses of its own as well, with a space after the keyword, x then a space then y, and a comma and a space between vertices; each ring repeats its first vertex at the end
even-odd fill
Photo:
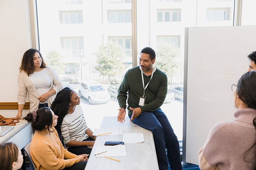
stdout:
POLYGON ((187 72, 184 72, 184 90, 187 87, 187 91, 184 91, 187 95, 184 96, 187 97, 184 100, 185 161, 198 165, 197 153, 213 125, 234 119, 233 112, 236 108, 231 84, 236 84, 248 70, 247 55, 256 50, 256 26, 186 30, 188 48, 185 51, 187 72))

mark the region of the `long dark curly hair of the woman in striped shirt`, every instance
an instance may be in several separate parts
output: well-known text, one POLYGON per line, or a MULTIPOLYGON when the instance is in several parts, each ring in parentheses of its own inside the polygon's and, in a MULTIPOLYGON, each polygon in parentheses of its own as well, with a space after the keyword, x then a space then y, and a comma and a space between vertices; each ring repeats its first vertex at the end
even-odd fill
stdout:
POLYGON ((68 114, 69 103, 71 102, 71 96, 73 95, 73 90, 66 87, 58 92, 55 100, 53 101, 51 108, 55 115, 58 116, 58 122, 55 129, 61 133, 61 124, 65 116, 68 114))

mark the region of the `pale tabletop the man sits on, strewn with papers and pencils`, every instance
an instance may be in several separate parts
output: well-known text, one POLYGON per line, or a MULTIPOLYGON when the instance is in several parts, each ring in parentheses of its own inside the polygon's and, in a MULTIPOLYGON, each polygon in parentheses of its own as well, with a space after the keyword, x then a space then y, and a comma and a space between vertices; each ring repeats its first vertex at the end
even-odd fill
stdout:
POLYGON ((105 141, 122 141, 123 134, 118 136, 98 136, 91 151, 85 170, 158 170, 154 138, 151 131, 141 128, 125 118, 124 123, 117 122, 116 117, 104 117, 100 128, 119 127, 123 133, 143 133, 143 143, 125 143, 127 156, 115 156, 117 162, 105 157, 95 157, 97 146, 104 146, 105 141))

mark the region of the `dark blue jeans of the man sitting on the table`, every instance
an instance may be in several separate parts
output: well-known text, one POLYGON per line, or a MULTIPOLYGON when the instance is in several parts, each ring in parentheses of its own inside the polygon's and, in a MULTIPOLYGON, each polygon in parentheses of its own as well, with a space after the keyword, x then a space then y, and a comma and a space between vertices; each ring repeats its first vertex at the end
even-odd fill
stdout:
POLYGON ((182 170, 179 141, 162 110, 143 112, 132 122, 153 133, 159 170, 167 170, 168 161, 171 170, 182 170))

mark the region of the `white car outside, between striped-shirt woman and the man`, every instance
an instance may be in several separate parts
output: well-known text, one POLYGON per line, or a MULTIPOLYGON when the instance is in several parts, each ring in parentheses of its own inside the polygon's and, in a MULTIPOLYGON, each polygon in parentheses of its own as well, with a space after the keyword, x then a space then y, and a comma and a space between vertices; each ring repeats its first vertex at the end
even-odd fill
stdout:
POLYGON ((94 81, 82 81, 79 84, 79 96, 84 97, 90 104, 107 103, 110 101, 110 94, 102 84, 94 81))

